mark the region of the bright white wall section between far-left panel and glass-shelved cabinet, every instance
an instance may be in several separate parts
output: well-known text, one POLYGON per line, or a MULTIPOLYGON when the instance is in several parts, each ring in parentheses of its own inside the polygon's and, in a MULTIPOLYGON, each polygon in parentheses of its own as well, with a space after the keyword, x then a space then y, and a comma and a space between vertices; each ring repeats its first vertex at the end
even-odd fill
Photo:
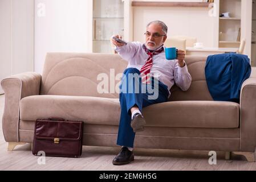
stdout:
POLYGON ((35 0, 35 72, 47 52, 92 52, 92 0, 35 0))

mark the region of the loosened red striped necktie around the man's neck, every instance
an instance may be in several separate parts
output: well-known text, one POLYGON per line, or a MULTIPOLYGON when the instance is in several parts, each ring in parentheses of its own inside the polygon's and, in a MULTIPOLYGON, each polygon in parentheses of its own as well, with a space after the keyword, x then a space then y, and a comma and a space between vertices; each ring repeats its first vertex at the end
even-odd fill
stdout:
POLYGON ((143 44, 143 48, 145 50, 145 52, 148 54, 148 59, 146 61, 146 63, 143 65, 143 67, 140 69, 140 73, 141 73, 141 80, 143 82, 143 84, 149 84, 150 83, 150 69, 153 65, 153 55, 158 55, 160 54, 162 51, 164 51, 164 47, 161 46, 160 48, 158 48, 156 51, 149 51, 149 49, 147 49, 147 47, 145 46, 145 44, 143 44))

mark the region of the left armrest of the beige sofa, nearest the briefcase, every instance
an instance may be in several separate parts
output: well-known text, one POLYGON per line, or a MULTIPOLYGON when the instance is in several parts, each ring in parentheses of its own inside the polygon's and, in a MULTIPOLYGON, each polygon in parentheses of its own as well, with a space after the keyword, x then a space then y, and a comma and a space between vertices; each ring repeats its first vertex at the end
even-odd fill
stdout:
POLYGON ((23 97, 39 94, 41 79, 38 73, 26 72, 1 81, 5 92, 2 127, 6 142, 19 142, 19 102, 23 97))

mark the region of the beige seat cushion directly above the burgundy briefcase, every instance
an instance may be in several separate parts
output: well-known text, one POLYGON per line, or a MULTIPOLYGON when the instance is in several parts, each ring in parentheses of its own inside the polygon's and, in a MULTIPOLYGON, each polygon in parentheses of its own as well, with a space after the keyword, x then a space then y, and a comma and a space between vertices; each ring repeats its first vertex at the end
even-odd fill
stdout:
POLYGON ((118 125, 120 118, 118 98, 30 96, 21 100, 20 107, 20 118, 24 121, 60 117, 91 124, 118 125))

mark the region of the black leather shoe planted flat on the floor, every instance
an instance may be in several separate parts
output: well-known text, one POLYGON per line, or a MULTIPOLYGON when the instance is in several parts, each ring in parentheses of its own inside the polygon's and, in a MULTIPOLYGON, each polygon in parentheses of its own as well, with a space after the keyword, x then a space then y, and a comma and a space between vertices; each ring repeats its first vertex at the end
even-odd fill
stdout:
POLYGON ((122 147, 119 154, 113 159, 114 165, 128 164, 134 160, 133 152, 129 151, 127 147, 122 147))

